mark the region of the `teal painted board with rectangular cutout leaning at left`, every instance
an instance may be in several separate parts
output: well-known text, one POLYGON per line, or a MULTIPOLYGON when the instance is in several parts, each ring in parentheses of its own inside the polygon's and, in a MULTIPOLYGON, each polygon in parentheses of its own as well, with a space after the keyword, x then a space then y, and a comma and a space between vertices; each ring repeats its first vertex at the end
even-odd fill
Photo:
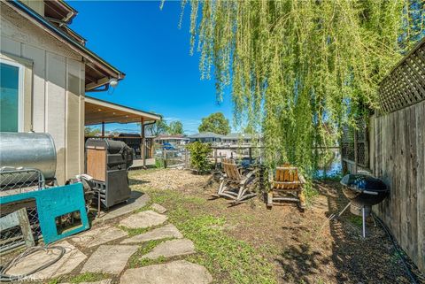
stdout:
POLYGON ((81 183, 55 188, 46 188, 13 196, 0 197, 0 206, 26 199, 35 199, 38 219, 42 229, 42 239, 45 244, 56 242, 69 235, 89 229, 86 203, 81 183), (58 234, 56 218, 73 211, 80 211, 81 226, 58 234))

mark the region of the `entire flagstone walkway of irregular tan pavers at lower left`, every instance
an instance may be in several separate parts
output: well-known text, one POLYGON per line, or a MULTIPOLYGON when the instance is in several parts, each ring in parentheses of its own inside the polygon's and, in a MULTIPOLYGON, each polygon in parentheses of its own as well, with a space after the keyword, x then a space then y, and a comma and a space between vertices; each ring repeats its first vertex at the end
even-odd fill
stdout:
MULTIPOLYGON (((111 224, 96 226, 89 231, 73 235, 66 241, 58 242, 55 245, 66 248, 64 257, 56 265, 51 265, 33 275, 36 277, 27 280, 49 280, 70 272, 75 274, 77 270, 77 273, 78 271, 93 272, 113 276, 113 280, 105 279, 87 284, 206 284, 212 282, 213 277, 204 266, 184 260, 184 256, 196 253, 195 245, 189 239, 185 239, 177 227, 167 224, 168 218, 166 214, 163 214, 166 208, 154 204, 151 209, 154 211, 133 213, 125 219, 114 222, 120 226, 111 224), (142 232, 147 229, 148 231, 128 237, 130 229, 142 229, 142 232), (140 259, 155 260, 161 257, 161 262, 165 259, 165 263, 126 270, 129 258, 143 245, 143 242, 161 240, 163 242, 159 242, 140 259), (89 253, 84 254, 79 248, 89 253)), ((20 262, 11 273, 23 274, 30 271, 35 263, 37 265, 47 263, 55 256, 55 253, 51 251, 50 253, 37 252, 33 257, 20 262), (36 262, 35 259, 37 259, 36 262)))

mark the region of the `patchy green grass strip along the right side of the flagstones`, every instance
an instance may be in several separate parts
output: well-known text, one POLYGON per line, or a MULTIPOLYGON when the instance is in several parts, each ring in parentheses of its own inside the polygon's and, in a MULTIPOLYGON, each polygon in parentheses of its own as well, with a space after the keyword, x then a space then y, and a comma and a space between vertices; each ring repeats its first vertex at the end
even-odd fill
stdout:
POLYGON ((198 211, 205 208, 205 199, 175 190, 150 189, 147 193, 152 202, 166 206, 168 221, 194 242, 197 254, 185 259, 204 265, 213 273, 214 283, 277 283, 274 265, 264 257, 267 247, 253 247, 228 235, 226 219, 198 211))

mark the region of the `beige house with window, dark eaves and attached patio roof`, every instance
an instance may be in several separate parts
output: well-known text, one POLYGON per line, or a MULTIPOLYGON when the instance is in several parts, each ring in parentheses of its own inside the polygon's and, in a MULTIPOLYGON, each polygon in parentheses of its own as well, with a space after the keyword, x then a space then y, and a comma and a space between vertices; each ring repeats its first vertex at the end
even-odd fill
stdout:
POLYGON ((59 184, 84 173, 84 125, 160 119, 94 98, 88 104, 86 92, 105 90, 125 74, 67 27, 77 14, 71 6, 59 0, 2 1, 0 11, 0 131, 51 134, 59 184))

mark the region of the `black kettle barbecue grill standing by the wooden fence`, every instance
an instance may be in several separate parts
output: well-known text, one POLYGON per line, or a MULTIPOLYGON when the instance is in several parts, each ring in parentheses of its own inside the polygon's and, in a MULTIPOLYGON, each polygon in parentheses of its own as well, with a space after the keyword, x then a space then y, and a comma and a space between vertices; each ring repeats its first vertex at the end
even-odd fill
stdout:
POLYGON ((363 218, 363 237, 365 237, 365 221, 372 211, 372 205, 381 203, 390 190, 383 180, 366 174, 347 174, 340 182, 343 185, 344 196, 350 200, 350 211, 363 218))

